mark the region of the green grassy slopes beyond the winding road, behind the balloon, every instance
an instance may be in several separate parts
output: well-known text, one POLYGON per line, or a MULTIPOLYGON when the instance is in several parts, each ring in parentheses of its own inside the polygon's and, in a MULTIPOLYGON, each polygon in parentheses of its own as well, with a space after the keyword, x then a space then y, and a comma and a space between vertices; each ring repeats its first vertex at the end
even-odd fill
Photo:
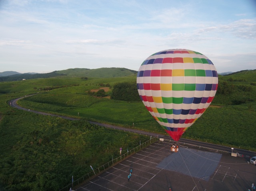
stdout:
MULTIPOLYGON (((219 77, 219 88, 212 106, 185 132, 184 138, 240 146, 249 150, 256 148, 253 138, 256 123, 253 117, 256 114, 256 86, 251 85, 256 75, 255 71, 242 73, 244 75, 235 73, 219 77), (231 77, 233 80, 230 80, 231 77), (248 137, 250 144, 244 142, 244 136, 248 137)), ((134 81, 135 84, 135 80, 135 75, 124 78, 88 79, 78 87, 55 89, 21 100, 20 104, 35 110, 69 116, 77 116, 79 112, 80 118, 88 120, 164 133, 142 102, 109 100, 88 95, 90 89, 100 88, 100 84, 114 85, 124 81, 134 81)), ((111 91, 112 89, 108 95, 111 91)))

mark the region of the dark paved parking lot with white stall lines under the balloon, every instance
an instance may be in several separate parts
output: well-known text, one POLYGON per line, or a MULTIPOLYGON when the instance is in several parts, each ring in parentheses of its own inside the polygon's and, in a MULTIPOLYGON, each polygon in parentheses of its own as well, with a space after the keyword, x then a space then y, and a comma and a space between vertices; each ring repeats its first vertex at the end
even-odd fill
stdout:
POLYGON ((256 183, 249 158, 158 141, 85 183, 77 191, 245 191, 256 183), (132 177, 128 173, 132 168, 132 177))

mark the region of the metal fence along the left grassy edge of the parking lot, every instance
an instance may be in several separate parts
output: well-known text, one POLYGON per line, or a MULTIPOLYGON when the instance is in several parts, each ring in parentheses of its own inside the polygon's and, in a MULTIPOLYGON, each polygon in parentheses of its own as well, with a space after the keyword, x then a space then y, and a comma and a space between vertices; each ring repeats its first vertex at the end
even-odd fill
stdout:
POLYGON ((96 175, 104 172, 109 167, 112 167, 112 166, 116 165, 120 161, 122 161, 122 160, 126 159, 128 156, 130 156, 130 155, 140 151, 141 149, 145 148, 146 146, 150 145, 151 143, 155 142, 156 140, 158 140, 157 136, 153 137, 153 138, 150 138, 150 140, 147 140, 146 142, 144 142, 144 143, 140 144, 139 146, 131 149, 130 151, 122 154, 118 158, 112 159, 111 161, 109 161, 108 163, 106 163, 104 165, 101 165, 100 167, 96 167, 96 168, 92 168, 91 167, 92 171, 90 171, 89 173, 85 174, 84 176, 78 178, 77 180, 74 180, 69 185, 67 185, 64 188, 60 189, 60 191, 69 191, 70 187, 73 188, 73 187, 77 187, 77 186, 81 185, 85 181, 88 181, 88 180, 92 179, 92 177, 95 177, 96 175))

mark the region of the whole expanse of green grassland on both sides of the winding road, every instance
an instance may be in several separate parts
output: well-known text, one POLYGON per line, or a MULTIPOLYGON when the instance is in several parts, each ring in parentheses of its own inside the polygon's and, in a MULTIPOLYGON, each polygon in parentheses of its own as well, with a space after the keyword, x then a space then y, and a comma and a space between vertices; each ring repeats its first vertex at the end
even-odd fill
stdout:
MULTIPOLYGON (((58 190, 70 177, 81 177, 89 165, 101 165, 118 148, 132 148, 147 137, 109 130, 86 120, 165 134, 141 101, 109 99, 117 83, 127 77, 88 78, 72 75, 0 83, 0 189, 58 190), (107 87, 104 97, 88 91, 107 87), (51 89, 44 91, 44 89, 51 89), (26 108, 73 116, 81 121, 16 110, 8 101, 26 108), (78 116, 79 112, 79 116, 78 116)), ((256 151, 256 71, 219 77, 211 106, 184 133, 183 138, 256 151)))

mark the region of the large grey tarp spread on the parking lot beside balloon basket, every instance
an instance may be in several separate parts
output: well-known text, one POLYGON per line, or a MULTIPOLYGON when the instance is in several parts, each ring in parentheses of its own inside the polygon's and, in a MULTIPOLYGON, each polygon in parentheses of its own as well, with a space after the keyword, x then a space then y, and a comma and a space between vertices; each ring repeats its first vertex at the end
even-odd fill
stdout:
POLYGON ((179 148, 178 152, 170 154, 157 167, 208 181, 221 156, 218 153, 179 148))

